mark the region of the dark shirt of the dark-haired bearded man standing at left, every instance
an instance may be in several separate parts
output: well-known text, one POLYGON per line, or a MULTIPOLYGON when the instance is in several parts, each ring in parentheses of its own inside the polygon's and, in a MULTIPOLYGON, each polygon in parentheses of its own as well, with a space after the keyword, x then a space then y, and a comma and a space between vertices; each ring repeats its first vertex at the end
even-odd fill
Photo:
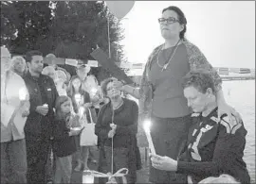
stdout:
POLYGON ((58 97, 55 84, 49 76, 40 75, 38 78, 30 73, 24 77, 27 91, 29 92, 30 114, 25 125, 25 134, 48 139, 52 134, 52 121, 54 118, 53 108, 58 97), (37 106, 48 105, 48 113, 43 116, 35 111, 37 106))

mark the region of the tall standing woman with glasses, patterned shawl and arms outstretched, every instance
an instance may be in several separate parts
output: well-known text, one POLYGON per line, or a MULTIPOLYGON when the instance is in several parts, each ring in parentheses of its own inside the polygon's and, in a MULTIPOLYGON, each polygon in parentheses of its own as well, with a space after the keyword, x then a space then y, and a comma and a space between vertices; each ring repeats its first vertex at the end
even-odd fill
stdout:
MULTIPOLYGON (((185 146, 192 113, 184 97, 181 78, 194 69, 211 72, 217 89, 218 113, 239 114, 226 103, 220 76, 214 71, 209 61, 197 46, 185 38, 187 19, 180 8, 171 6, 162 10, 158 19, 161 35, 165 42, 155 48, 150 55, 140 88, 115 82, 121 91, 139 99, 141 119, 152 121, 152 138, 155 152, 160 156, 177 159, 185 146)), ((150 181, 153 183, 184 183, 187 176, 150 169, 150 181)))

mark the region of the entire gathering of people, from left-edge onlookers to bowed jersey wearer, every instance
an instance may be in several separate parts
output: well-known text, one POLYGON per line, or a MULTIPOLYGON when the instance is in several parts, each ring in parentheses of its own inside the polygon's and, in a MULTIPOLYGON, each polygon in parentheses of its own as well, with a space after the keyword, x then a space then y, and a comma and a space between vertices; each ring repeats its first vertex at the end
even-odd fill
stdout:
POLYGON ((1 47, 1 182, 70 183, 72 159, 75 171, 89 170, 90 159, 103 173, 127 168, 127 182, 136 183, 138 120, 150 119, 152 183, 206 183, 216 176, 249 183, 247 130, 226 103, 220 76, 185 38, 180 8, 164 8, 158 22, 165 42, 149 57, 139 88, 113 77, 100 85, 88 65, 70 75, 54 63, 44 67, 40 51, 11 57, 1 47), (98 160, 90 151, 96 145, 98 160))

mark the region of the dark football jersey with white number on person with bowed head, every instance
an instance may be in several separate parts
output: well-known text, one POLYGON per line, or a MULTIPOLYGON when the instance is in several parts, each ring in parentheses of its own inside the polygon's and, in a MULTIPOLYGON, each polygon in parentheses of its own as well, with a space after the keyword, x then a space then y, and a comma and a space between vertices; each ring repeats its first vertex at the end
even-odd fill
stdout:
POLYGON ((192 176, 198 183, 209 176, 228 174, 241 183, 250 183, 247 165, 243 160, 247 130, 243 122, 229 122, 224 115, 217 121, 217 108, 207 117, 192 114, 188 146, 180 156, 177 173, 192 176))

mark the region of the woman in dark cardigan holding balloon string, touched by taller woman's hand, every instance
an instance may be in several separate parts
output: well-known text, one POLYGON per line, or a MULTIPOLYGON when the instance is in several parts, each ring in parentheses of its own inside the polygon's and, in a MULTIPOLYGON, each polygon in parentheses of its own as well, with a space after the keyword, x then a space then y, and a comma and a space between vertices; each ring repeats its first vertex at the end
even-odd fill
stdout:
MULTIPOLYGON (((121 97, 121 92, 113 87, 115 80, 117 79, 107 78, 101 83, 101 90, 110 102, 99 112, 95 134, 102 142, 100 151, 104 154, 100 155, 106 162, 105 167, 102 166, 103 173, 114 174, 121 168, 127 168, 127 183, 132 184, 136 183, 136 171, 141 166, 136 138, 138 107, 135 101, 121 97)), ((103 165, 101 161, 99 164, 103 165)), ((119 179, 117 177, 118 183, 122 183, 119 179)))

